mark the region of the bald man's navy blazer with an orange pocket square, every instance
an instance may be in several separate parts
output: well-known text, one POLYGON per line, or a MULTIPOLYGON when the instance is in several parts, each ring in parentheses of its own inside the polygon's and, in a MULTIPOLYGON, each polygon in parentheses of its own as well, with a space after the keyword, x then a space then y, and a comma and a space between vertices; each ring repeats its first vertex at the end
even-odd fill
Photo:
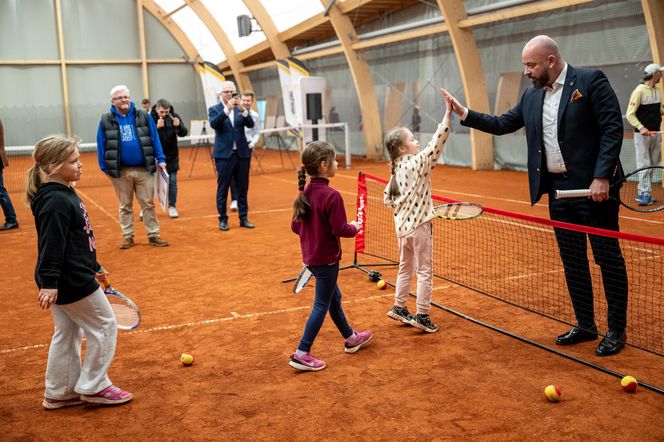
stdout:
MULTIPOLYGON (((468 110, 463 126, 494 135, 526 128, 530 202, 547 192, 542 107, 544 89, 530 86, 512 109, 500 116, 468 110), (543 175, 544 173, 544 175, 543 175)), ((613 183, 623 177, 620 149, 623 139, 620 104, 609 80, 597 69, 567 65, 567 77, 558 108, 558 143, 574 188, 587 189, 594 178, 613 183)))

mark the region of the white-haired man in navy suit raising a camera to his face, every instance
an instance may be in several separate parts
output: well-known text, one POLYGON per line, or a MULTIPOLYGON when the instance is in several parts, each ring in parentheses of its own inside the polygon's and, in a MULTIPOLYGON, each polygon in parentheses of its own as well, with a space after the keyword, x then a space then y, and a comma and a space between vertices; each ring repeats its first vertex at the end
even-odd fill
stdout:
POLYGON ((226 200, 231 180, 237 186, 237 205, 240 215, 240 227, 253 229, 247 219, 247 187, 249 185, 249 162, 251 149, 244 134, 245 127, 254 127, 249 109, 242 105, 235 83, 225 81, 221 85, 220 102, 208 109, 210 126, 215 130, 214 157, 217 168, 217 211, 219 212, 219 230, 226 231, 228 215, 226 200))

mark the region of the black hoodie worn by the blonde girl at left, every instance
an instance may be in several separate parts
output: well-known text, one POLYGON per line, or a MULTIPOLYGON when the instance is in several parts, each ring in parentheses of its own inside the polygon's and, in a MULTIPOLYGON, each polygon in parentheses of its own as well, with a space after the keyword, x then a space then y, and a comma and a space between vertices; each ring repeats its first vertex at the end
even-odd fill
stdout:
POLYGON ((30 204, 37 228, 37 286, 58 289, 56 304, 71 304, 99 288, 95 235, 74 189, 42 184, 30 204))

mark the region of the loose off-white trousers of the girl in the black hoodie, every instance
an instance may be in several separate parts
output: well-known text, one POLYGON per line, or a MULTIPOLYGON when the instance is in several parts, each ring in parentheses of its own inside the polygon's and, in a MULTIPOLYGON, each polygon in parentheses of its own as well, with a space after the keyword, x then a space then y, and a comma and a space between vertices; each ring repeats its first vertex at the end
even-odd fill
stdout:
POLYGON ((51 314, 55 330, 48 351, 44 396, 71 399, 110 386, 108 368, 115 354, 117 324, 101 288, 72 304, 53 304, 51 314), (81 364, 84 335, 87 345, 81 364))

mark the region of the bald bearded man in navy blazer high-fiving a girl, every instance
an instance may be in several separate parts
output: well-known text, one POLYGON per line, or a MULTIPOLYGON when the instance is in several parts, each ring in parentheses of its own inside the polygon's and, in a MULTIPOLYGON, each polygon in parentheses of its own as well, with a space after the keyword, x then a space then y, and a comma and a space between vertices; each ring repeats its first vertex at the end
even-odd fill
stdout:
MULTIPOLYGON (((463 126, 494 135, 525 126, 528 144, 530 202, 549 194, 552 220, 619 230, 619 186, 623 125, 620 104, 604 73, 574 68, 563 59, 556 42, 538 35, 523 48, 524 75, 532 83, 520 101, 500 115, 462 106, 454 97, 453 111, 463 126), (590 189, 589 198, 556 199, 556 190, 590 189)), ((577 324, 558 336, 556 344, 573 345, 598 337, 586 234, 554 228, 577 324)), ((608 305, 609 330, 596 354, 618 353, 627 339, 627 271, 617 239, 588 235, 601 268, 608 305)))

